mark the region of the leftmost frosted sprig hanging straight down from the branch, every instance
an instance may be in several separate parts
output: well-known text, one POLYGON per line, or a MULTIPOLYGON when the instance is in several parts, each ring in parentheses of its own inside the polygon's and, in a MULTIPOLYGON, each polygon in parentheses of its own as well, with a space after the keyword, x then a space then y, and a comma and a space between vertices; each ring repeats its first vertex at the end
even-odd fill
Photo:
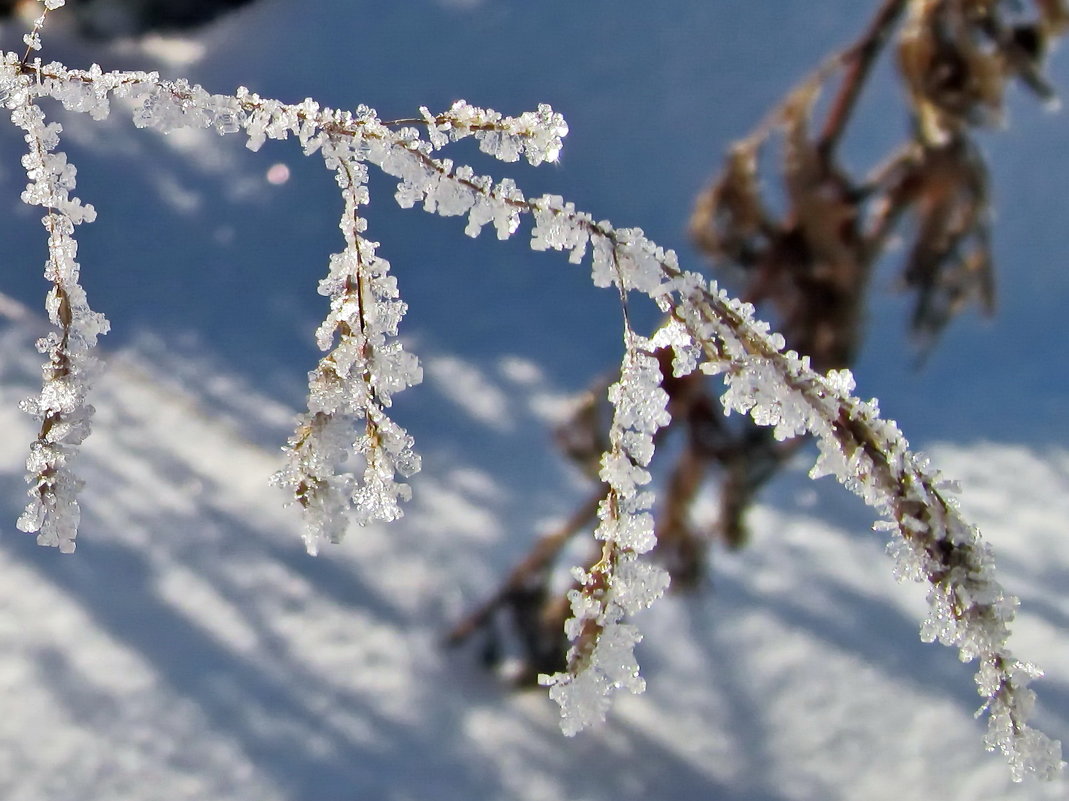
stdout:
POLYGON ((26 462, 30 503, 17 525, 24 532, 36 532, 40 544, 71 553, 80 519, 77 493, 81 481, 71 471, 69 461, 89 435, 93 406, 86 397, 96 364, 91 351, 96 338, 108 330, 108 321, 89 308, 79 283, 74 228, 91 222, 96 215, 91 205, 83 205, 71 195, 77 170, 63 153, 53 152, 62 127, 45 123, 35 103, 36 82, 17 74, 9 59, 0 86, 12 122, 26 132, 29 145, 22 157, 29 179, 22 201, 47 212, 42 222, 48 231, 45 278, 51 289, 45 307, 56 326, 37 341, 37 350, 46 356, 41 394, 20 404, 41 427, 26 462))

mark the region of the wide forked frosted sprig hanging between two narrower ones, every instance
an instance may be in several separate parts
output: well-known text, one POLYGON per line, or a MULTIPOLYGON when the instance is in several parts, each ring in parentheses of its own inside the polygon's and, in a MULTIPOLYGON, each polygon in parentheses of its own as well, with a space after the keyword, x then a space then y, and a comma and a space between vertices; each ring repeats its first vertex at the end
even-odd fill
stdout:
POLYGON ((410 489, 399 478, 420 467, 412 437, 386 414, 394 392, 422 381, 422 369, 396 340, 406 305, 389 263, 376 255, 377 243, 362 235, 363 151, 351 140, 328 137, 322 152, 345 201, 340 222, 345 248, 330 257, 330 272, 320 282, 330 312, 316 342, 329 353, 309 373, 308 412, 275 477, 304 510, 310 553, 322 541, 340 540, 351 517, 359 524, 400 518, 410 489), (343 467, 351 453, 363 462, 360 475, 343 467))

